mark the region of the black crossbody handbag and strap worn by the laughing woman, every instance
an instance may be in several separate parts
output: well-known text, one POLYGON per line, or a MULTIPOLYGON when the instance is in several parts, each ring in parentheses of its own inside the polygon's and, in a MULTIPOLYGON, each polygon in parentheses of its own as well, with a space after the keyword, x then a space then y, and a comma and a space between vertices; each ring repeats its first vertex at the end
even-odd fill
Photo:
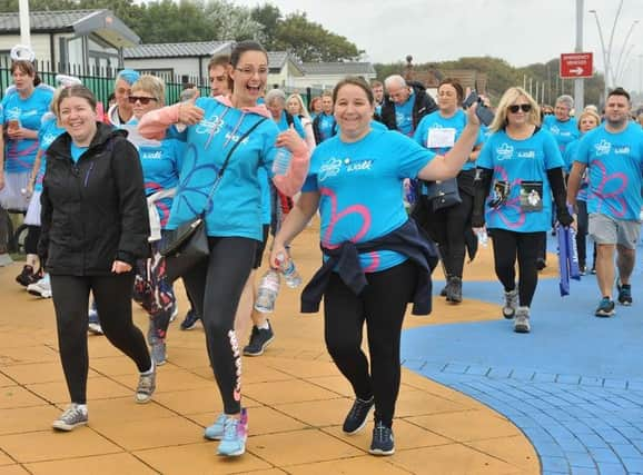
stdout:
POLYGON ((230 151, 228 151, 228 155, 224 160, 224 165, 221 165, 221 168, 217 174, 212 188, 208 194, 204 210, 189 221, 186 221, 179 225, 176 229, 167 232, 161 239, 159 253, 165 257, 166 277, 169 281, 174 281, 177 278, 185 276, 192 267, 209 256, 210 247, 208 245, 208 235, 206 230, 206 210, 208 209, 208 205, 221 181, 221 177, 228 167, 233 152, 237 149, 238 145, 241 144, 246 137, 248 137, 250 132, 259 127, 259 125, 265 120, 266 118, 263 118, 250 127, 248 131, 246 131, 246 133, 235 142, 233 148, 230 148, 230 151))

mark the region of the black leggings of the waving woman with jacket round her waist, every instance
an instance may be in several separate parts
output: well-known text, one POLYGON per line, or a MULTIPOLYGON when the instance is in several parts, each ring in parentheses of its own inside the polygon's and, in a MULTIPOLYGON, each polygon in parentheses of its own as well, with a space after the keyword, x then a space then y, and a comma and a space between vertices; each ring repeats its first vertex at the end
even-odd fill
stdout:
POLYGON ((380 273, 367 274, 368 285, 356 296, 333 273, 324 295, 324 336, 333 360, 360 399, 375 397, 375 419, 393 424, 399 393, 399 338, 406 304, 416 285, 409 260, 380 273), (366 321, 368 359, 362 350, 366 321))

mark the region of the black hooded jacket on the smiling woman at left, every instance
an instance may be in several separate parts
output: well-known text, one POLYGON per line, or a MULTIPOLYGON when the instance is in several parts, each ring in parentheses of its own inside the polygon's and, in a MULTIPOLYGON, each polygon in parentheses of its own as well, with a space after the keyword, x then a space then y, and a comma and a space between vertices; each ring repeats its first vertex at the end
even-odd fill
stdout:
POLYGON ((38 253, 53 275, 109 275, 149 254, 142 169, 125 130, 97 122, 89 149, 71 159, 62 133, 47 151, 38 253))

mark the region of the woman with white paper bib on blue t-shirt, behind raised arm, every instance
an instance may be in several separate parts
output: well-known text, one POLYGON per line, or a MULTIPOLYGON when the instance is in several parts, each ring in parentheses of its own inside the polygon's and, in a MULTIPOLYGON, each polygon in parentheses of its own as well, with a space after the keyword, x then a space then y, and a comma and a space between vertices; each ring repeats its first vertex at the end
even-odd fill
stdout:
MULTIPOLYGON (((466 126, 466 113, 462 109, 464 89, 455 79, 443 79, 437 88, 438 110, 425 116, 415 130, 414 140, 435 154, 444 155, 455 144, 466 126)), ((461 202, 448 208, 434 209, 432 200, 421 198, 423 206, 415 208, 415 215, 423 212, 422 222, 428 235, 439 246, 439 257, 444 264, 446 287, 442 295, 447 301, 462 301, 462 274, 465 259, 465 240, 475 239, 471 230, 473 208, 473 180, 475 160, 482 146, 482 135, 468 160, 457 174, 456 184, 461 202), (422 211, 421 211, 422 210, 422 211), (468 235, 468 236, 467 236, 468 235)), ((426 185, 421 186, 422 195, 426 185)), ((419 217, 419 216, 418 216, 419 217)))

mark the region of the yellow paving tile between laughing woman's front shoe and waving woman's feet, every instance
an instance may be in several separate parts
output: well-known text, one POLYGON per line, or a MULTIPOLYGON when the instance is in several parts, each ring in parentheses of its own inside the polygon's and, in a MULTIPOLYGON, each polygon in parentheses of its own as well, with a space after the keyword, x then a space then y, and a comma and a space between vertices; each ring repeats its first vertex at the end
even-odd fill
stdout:
POLYGON ((249 437, 247 447, 253 454, 278 467, 364 454, 363 451, 315 429, 249 437))

